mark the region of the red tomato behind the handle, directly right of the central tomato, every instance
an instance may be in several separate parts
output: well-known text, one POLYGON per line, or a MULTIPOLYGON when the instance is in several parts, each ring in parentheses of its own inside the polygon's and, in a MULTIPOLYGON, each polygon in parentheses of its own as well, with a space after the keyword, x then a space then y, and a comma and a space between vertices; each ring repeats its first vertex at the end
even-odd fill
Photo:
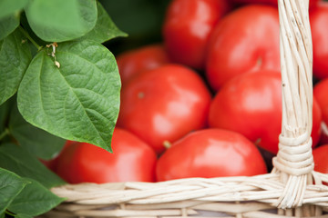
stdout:
MULTIPOLYGON (((322 114, 313 101, 313 146, 321 134, 322 114)), ((210 127, 238 132, 277 154, 282 132, 282 80, 277 72, 241 74, 223 85, 210 104, 210 127)))

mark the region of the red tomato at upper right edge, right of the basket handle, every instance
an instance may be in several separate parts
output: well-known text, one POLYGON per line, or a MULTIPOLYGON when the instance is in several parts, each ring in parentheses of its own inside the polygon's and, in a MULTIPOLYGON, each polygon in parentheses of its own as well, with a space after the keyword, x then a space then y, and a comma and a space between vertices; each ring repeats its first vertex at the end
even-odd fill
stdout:
POLYGON ((320 2, 309 13, 313 37, 313 75, 319 79, 328 77, 328 3, 320 2))

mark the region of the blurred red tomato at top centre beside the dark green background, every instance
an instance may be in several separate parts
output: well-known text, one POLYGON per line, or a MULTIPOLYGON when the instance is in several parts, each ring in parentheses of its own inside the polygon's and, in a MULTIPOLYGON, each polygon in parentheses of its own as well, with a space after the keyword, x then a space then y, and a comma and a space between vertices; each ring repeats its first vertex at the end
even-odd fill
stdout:
POLYGON ((173 0, 163 25, 163 40, 176 63, 203 69, 214 25, 229 11, 227 0, 173 0))

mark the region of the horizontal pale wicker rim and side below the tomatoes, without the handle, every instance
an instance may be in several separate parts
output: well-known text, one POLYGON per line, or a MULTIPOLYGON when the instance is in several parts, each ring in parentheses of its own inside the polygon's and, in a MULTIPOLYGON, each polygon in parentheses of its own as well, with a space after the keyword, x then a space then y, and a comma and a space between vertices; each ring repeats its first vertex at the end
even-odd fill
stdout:
MULTIPOLYGON (((313 172, 313 178, 328 183, 327 174, 313 172)), ((280 175, 274 172, 251 177, 190 178, 161 183, 67 184, 52 189, 67 201, 47 215, 181 216, 184 209, 185 216, 210 212, 227 217, 241 214, 242 217, 275 217, 278 212, 274 203, 283 190, 280 175)), ((300 215, 309 210, 313 210, 313 216, 321 215, 322 210, 328 211, 328 186, 307 185, 303 203, 309 206, 302 207, 300 215), (312 205, 321 206, 321 209, 312 205)))

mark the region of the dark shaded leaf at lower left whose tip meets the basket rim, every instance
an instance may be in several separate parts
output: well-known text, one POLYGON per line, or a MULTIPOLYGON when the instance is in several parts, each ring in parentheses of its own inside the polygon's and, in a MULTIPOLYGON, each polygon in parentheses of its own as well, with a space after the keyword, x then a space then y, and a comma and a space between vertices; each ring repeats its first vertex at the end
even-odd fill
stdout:
POLYGON ((0 146, 0 167, 18 174, 21 177, 35 179, 46 188, 65 183, 55 173, 49 171, 35 156, 16 144, 0 146))

